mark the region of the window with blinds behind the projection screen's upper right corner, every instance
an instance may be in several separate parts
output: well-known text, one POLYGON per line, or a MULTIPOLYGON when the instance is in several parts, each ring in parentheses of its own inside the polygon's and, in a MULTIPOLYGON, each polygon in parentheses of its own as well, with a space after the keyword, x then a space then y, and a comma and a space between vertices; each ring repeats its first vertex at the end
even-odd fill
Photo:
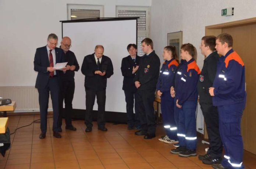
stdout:
MULTIPOLYGON (((141 49, 141 41, 149 37, 149 7, 130 7, 130 6, 117 6, 117 17, 139 17, 137 22, 138 28, 138 51, 139 56, 143 56, 145 53, 141 49)), ((128 45, 128 44, 127 44, 128 45)))

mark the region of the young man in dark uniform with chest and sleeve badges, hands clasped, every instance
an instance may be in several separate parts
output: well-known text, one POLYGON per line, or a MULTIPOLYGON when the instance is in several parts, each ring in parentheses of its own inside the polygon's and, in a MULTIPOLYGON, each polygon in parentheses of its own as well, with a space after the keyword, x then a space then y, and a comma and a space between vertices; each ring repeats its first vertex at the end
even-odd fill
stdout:
POLYGON ((153 41, 145 38, 141 41, 143 52, 139 69, 134 77, 135 86, 138 88, 136 100, 139 105, 141 130, 135 135, 145 135, 144 139, 156 137, 156 122, 154 115, 154 99, 156 83, 159 77, 160 59, 153 50, 153 41))

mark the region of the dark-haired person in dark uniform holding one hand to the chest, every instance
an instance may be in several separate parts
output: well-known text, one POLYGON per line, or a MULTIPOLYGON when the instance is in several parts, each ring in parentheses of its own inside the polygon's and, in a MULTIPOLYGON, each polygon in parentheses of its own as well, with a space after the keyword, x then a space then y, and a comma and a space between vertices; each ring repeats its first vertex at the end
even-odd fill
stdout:
POLYGON ((139 60, 141 59, 138 55, 136 55, 137 52, 137 46, 135 44, 129 44, 127 46, 127 51, 130 54, 129 56, 122 59, 122 65, 121 65, 121 71, 122 76, 124 76, 123 80, 123 86, 122 89, 124 90, 125 95, 125 102, 126 102, 126 112, 127 112, 127 124, 128 130, 131 130, 134 128, 139 128, 140 121, 139 121, 139 111, 138 111, 138 105, 135 100, 134 105, 134 98, 137 93, 137 88, 134 84, 134 77, 135 73, 139 68, 139 60), (134 114, 134 106, 135 106, 135 114, 134 114))

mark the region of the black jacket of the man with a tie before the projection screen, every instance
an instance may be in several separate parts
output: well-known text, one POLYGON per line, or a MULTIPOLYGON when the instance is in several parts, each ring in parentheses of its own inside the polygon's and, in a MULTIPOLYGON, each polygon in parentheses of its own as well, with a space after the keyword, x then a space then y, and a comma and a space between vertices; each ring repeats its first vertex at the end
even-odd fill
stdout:
POLYGON ((111 59, 107 56, 102 56, 99 70, 106 71, 104 76, 95 74, 94 72, 96 70, 98 70, 98 67, 94 58, 94 53, 85 56, 81 67, 81 71, 85 75, 85 88, 95 91, 105 90, 107 87, 107 78, 110 78, 110 76, 114 74, 111 59))

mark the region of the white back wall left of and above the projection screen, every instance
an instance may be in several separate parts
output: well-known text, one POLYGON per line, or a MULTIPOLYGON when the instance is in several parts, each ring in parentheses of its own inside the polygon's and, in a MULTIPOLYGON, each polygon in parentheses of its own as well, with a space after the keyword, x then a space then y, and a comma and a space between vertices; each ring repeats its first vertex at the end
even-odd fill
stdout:
POLYGON ((36 48, 46 45, 50 33, 61 38, 67 4, 104 5, 104 17, 115 17, 116 5, 151 6, 151 0, 0 0, 0 86, 35 85, 36 48))

